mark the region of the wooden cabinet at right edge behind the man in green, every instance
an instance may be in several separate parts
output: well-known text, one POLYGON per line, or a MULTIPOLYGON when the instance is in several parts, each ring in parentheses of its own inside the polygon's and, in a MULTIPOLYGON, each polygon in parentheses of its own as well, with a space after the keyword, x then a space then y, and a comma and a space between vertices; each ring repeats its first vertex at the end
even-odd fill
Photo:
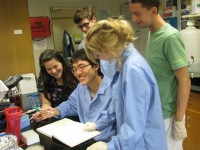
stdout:
POLYGON ((188 137, 184 140, 184 150, 200 150, 200 93, 191 92, 186 110, 188 137))

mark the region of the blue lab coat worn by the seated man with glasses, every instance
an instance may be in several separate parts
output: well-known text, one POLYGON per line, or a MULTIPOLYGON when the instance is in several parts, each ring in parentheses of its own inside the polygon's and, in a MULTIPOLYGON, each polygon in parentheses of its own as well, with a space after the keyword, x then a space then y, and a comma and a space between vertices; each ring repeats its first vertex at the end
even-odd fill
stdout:
MULTIPOLYGON (((100 87, 91 101, 90 90, 88 86, 78 84, 77 88, 69 96, 68 100, 56 107, 61 117, 78 115, 80 122, 96 122, 98 114, 106 111, 111 102, 111 87, 109 78, 103 78, 100 87)), ((96 141, 109 141, 112 135, 116 134, 115 124, 111 124, 101 131, 101 134, 94 139, 96 141)))

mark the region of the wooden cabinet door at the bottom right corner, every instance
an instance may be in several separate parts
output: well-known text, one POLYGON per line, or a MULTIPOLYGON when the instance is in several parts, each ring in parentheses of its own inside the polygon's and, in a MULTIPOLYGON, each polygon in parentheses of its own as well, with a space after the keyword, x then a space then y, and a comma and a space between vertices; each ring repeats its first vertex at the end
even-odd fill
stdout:
POLYGON ((200 150, 200 112, 187 109, 186 128, 188 137, 184 140, 184 150, 200 150))

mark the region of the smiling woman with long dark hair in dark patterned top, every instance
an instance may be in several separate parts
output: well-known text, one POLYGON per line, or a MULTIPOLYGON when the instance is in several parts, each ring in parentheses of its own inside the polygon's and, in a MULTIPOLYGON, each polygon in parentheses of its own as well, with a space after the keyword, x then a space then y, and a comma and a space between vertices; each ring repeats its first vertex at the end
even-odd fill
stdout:
POLYGON ((63 57, 55 50, 47 49, 41 53, 39 63, 40 76, 37 85, 42 108, 56 107, 67 100, 78 81, 63 57))

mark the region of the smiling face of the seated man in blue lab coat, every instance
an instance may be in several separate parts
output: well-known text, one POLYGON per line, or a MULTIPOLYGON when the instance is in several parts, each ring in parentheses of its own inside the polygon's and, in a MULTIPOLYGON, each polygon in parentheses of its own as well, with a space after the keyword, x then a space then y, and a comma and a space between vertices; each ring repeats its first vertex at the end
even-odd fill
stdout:
POLYGON ((72 72, 74 76, 83 85, 90 85, 94 81, 95 77, 98 76, 99 66, 92 66, 88 61, 79 60, 72 65, 72 72))

